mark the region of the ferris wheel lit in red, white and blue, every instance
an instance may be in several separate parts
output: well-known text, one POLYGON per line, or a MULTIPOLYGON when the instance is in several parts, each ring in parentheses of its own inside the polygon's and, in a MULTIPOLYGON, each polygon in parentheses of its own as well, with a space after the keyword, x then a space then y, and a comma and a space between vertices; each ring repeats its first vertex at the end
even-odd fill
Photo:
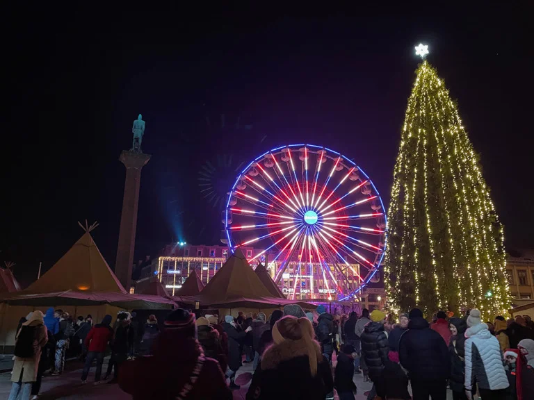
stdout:
POLYGON ((252 160, 228 193, 222 221, 229 250, 266 264, 289 299, 348 301, 385 252, 385 208, 369 176, 312 144, 252 160))

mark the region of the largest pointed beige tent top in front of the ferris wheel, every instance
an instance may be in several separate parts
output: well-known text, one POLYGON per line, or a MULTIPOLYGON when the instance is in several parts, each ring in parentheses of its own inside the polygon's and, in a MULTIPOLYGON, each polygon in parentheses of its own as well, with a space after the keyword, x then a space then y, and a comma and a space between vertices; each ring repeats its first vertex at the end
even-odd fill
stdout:
POLYGON ((216 304, 236 297, 256 299, 272 297, 248 264, 243 252, 237 249, 200 294, 204 304, 216 304))

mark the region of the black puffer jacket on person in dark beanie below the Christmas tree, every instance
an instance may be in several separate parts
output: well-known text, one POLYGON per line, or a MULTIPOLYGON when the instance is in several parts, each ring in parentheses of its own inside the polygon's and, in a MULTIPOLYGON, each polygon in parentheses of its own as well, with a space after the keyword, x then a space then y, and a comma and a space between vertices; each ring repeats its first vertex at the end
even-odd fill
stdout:
POLYGON ((411 379, 439 380, 451 374, 447 345, 423 317, 410 319, 398 346, 398 356, 411 379))

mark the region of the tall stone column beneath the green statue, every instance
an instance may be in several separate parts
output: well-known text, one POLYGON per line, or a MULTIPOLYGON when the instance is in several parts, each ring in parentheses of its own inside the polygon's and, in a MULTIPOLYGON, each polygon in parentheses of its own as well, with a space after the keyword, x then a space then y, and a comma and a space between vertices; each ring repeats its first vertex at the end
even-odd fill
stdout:
POLYGON ((124 198, 122 199, 122 215, 120 217, 119 244, 115 275, 127 292, 131 285, 131 267, 133 265, 133 249, 136 244, 137 208, 139 203, 139 186, 141 169, 150 160, 149 154, 124 150, 119 160, 126 167, 124 181, 124 198))

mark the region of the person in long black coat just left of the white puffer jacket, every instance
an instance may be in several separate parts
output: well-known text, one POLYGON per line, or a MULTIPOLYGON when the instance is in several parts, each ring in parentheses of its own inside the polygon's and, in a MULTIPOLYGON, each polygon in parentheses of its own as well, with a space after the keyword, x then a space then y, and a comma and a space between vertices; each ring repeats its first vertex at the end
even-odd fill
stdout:
POLYGON ((467 400, 464 387, 464 333, 467 329, 467 323, 462 318, 451 318, 448 323, 451 329, 451 340, 448 343, 448 355, 451 358, 451 378, 448 381, 448 386, 453 392, 453 400, 467 400))

